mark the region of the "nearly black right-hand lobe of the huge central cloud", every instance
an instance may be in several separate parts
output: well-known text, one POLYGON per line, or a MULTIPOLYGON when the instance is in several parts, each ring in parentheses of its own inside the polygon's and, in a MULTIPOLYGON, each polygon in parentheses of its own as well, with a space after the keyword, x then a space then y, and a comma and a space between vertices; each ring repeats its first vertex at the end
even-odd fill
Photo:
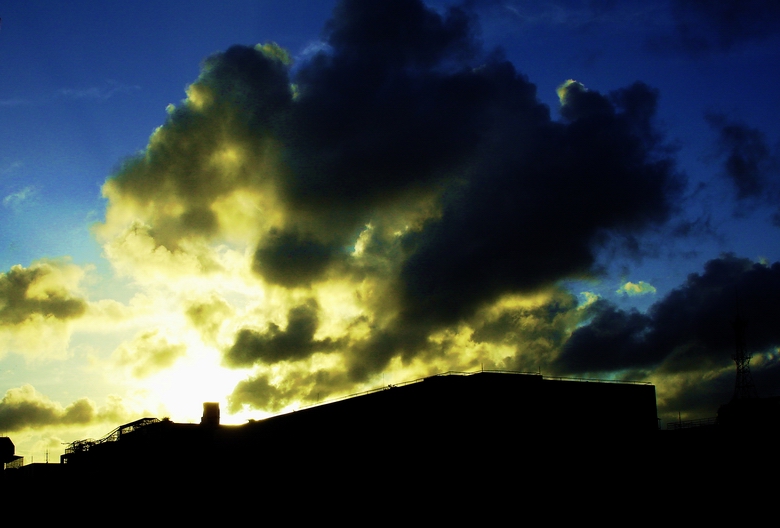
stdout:
POLYGON ((415 320, 452 323, 502 294, 588 275, 604 237, 630 240, 664 222, 681 189, 650 122, 652 89, 606 97, 571 83, 567 122, 554 123, 511 66, 497 67, 502 116, 474 177, 445 196, 440 219, 407 236, 402 277, 415 320))

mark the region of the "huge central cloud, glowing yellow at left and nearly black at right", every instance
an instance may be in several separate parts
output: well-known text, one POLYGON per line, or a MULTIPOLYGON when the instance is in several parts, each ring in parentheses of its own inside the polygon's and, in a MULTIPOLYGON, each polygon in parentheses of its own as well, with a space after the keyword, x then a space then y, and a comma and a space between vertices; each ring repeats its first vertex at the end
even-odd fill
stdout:
POLYGON ((488 343, 522 322, 550 361, 576 302, 494 309, 598 275, 602 248, 665 223, 684 187, 656 90, 561 95, 554 120, 465 9, 347 0, 294 69, 274 44, 209 57, 106 181, 96 232, 141 283, 215 285, 225 304, 199 291, 183 310, 226 365, 256 369, 235 405, 349 390, 391 365, 538 366, 533 347, 509 339, 493 357, 488 343), (228 277, 268 308, 234 309, 228 277))

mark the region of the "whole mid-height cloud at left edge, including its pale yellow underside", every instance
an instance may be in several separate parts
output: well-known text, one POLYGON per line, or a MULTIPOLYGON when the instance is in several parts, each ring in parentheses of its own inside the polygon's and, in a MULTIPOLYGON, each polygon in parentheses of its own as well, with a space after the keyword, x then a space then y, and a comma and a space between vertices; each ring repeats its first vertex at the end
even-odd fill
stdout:
POLYGON ((0 354, 62 357, 72 323, 87 311, 79 292, 85 271, 67 260, 40 260, 0 274, 0 354))

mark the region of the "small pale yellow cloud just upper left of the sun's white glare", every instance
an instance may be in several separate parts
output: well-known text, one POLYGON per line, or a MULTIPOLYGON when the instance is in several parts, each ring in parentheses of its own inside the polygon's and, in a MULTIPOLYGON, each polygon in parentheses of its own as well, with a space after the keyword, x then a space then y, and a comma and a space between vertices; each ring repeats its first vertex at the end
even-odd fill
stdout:
POLYGON ((159 330, 147 330, 132 342, 120 345, 114 352, 114 360, 119 366, 130 368, 136 378, 145 378, 170 368, 186 353, 184 344, 171 343, 159 330))

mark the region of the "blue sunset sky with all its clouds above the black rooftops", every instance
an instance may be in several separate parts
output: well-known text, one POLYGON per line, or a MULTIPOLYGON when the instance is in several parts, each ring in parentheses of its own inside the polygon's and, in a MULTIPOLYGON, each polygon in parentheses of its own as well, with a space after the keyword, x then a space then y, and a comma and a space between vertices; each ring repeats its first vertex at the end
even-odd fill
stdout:
MULTIPOLYGON (((780 4, 0 6, 0 434, 480 369, 780 394, 780 4)), ((595 417, 594 419, 608 419, 595 417)))

